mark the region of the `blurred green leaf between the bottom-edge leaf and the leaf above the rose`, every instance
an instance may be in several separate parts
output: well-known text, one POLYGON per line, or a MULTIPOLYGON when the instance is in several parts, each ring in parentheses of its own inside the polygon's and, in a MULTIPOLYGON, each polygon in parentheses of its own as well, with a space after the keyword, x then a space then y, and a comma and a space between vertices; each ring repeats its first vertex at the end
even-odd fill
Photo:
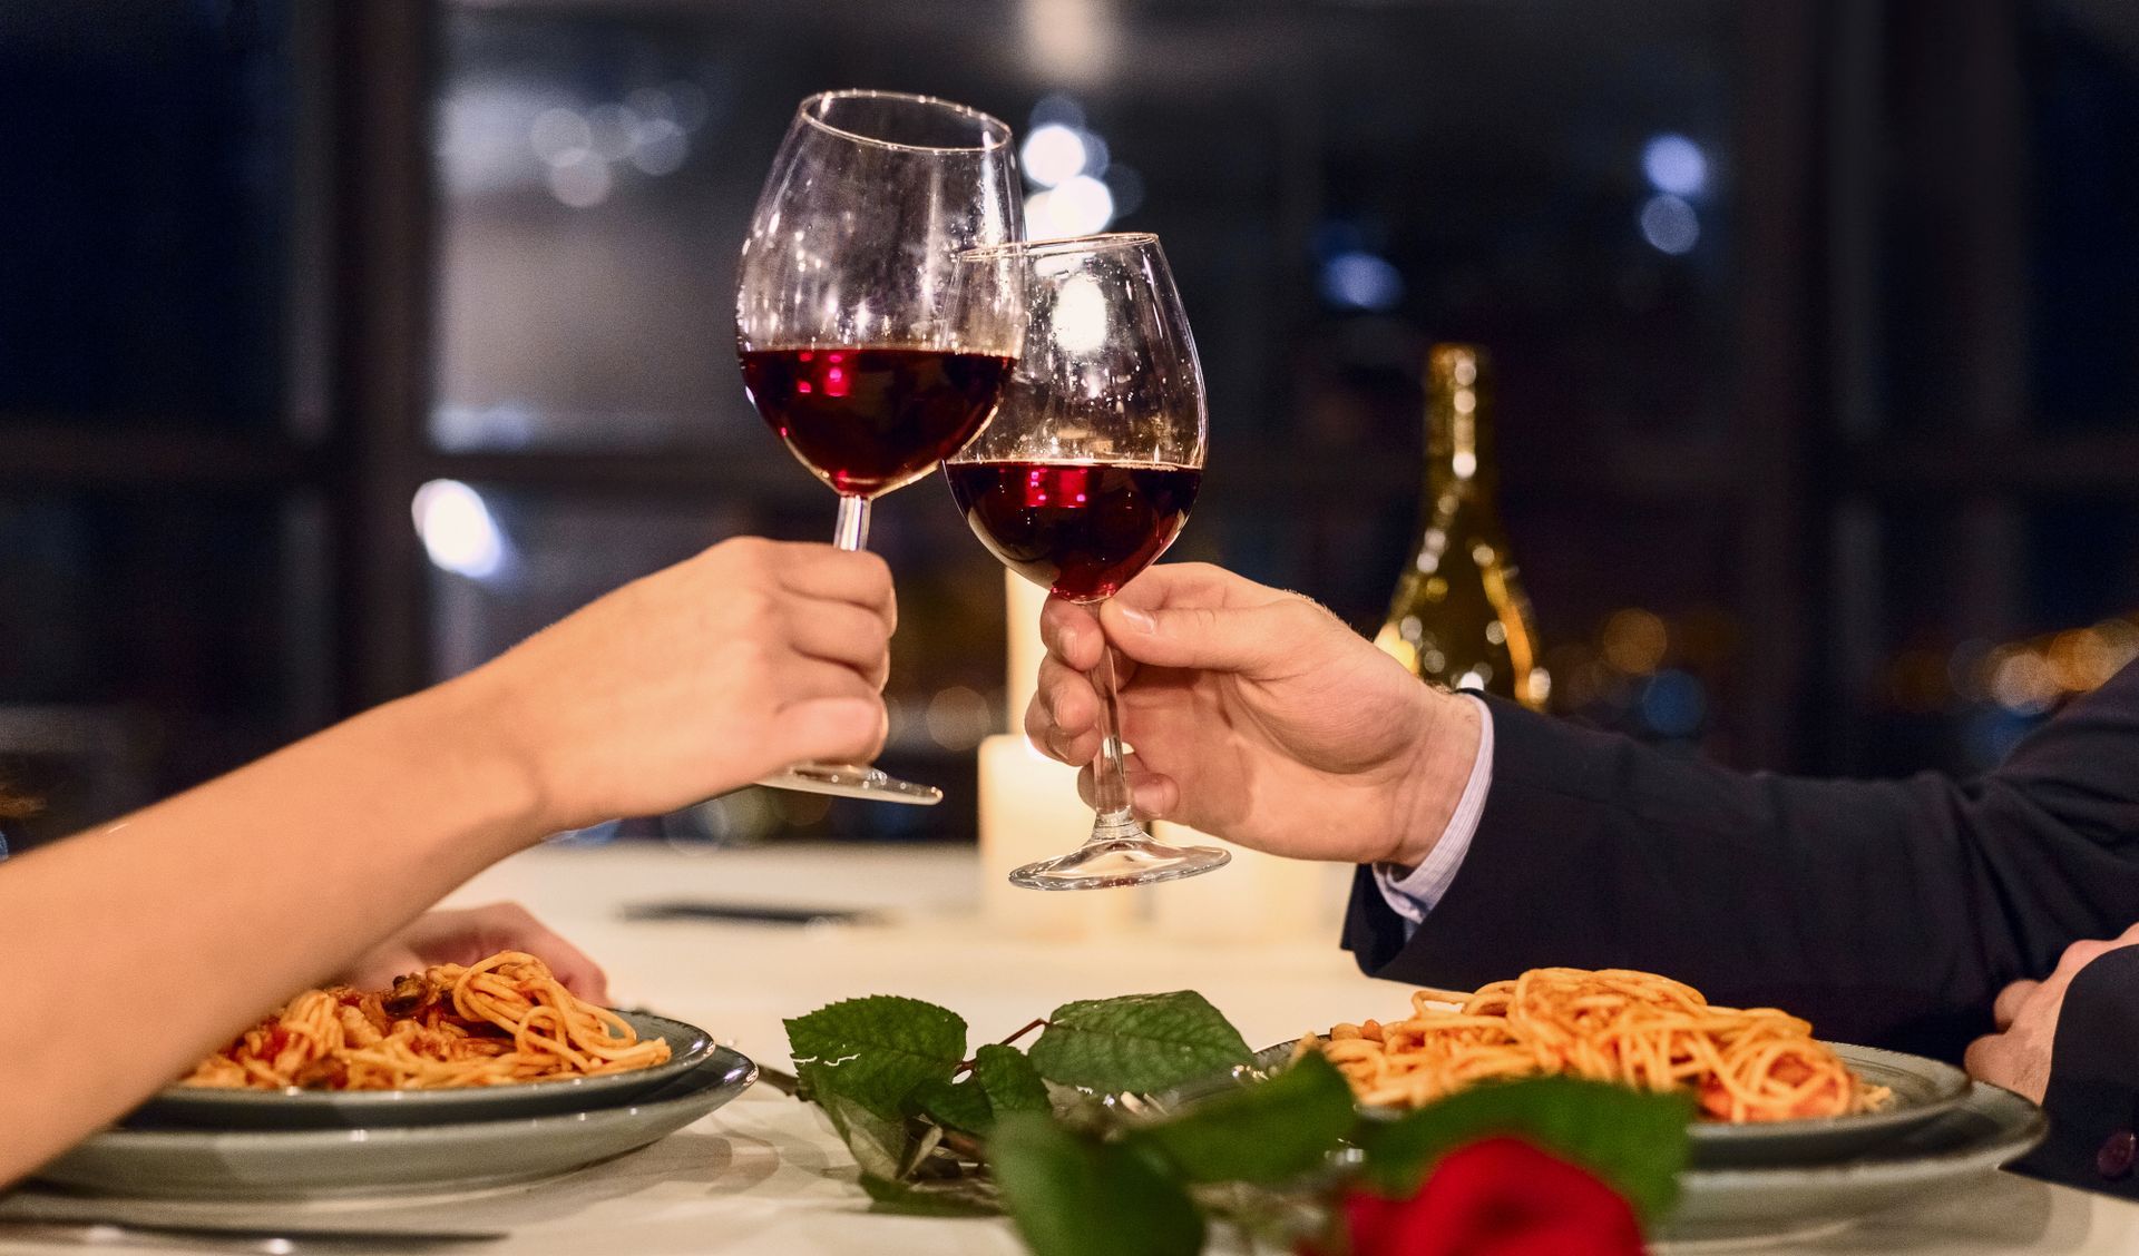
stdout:
POLYGON ((1352 1085, 1320 1053, 1271 1081, 1138 1128, 1189 1181, 1288 1181, 1322 1168, 1352 1126, 1352 1085))

